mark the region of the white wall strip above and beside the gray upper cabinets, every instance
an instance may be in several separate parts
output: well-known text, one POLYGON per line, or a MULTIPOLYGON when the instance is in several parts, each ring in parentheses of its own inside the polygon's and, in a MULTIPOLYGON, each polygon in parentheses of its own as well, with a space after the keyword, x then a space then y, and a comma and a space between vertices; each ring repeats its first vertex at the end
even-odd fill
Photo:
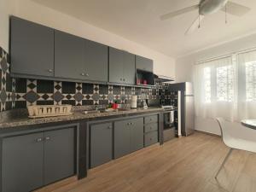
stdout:
POLYGON ((151 58, 154 60, 154 73, 175 78, 175 60, 172 57, 163 55, 153 49, 148 49, 141 44, 96 26, 91 26, 72 16, 46 8, 32 2, 32 0, 0 0, 0 8, 0 46, 6 50, 9 50, 9 15, 16 15, 26 20, 32 20, 45 26, 151 58))

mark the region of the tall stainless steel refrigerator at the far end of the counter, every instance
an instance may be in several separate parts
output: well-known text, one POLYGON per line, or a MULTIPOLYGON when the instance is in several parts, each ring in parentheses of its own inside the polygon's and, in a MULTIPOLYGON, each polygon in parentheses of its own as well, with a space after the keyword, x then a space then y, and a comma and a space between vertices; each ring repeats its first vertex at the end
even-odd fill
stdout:
POLYGON ((169 84, 171 92, 176 91, 178 121, 182 136, 189 136, 195 131, 195 108, 194 108, 194 91, 190 82, 169 84))

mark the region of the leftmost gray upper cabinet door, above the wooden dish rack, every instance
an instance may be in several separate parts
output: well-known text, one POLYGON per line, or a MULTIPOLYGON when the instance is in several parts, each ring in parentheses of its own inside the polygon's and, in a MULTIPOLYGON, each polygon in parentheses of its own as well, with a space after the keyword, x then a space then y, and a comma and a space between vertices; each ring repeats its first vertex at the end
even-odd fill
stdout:
POLYGON ((54 30, 11 17, 11 73, 54 76, 54 30))

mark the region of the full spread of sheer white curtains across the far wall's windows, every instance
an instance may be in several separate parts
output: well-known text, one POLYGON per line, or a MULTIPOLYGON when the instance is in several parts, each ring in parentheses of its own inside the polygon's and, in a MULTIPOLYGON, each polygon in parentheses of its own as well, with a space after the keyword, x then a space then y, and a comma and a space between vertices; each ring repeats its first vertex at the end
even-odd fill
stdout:
POLYGON ((195 114, 256 119, 256 51, 195 65, 195 114))

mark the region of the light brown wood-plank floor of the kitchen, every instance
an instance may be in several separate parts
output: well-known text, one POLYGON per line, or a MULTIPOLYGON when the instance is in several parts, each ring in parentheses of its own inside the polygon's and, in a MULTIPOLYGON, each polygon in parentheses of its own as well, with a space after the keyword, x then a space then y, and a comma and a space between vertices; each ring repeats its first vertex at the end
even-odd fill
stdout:
POLYGON ((229 148, 220 137, 195 133, 144 148, 40 192, 255 192, 256 154, 234 150, 214 179, 229 148))

